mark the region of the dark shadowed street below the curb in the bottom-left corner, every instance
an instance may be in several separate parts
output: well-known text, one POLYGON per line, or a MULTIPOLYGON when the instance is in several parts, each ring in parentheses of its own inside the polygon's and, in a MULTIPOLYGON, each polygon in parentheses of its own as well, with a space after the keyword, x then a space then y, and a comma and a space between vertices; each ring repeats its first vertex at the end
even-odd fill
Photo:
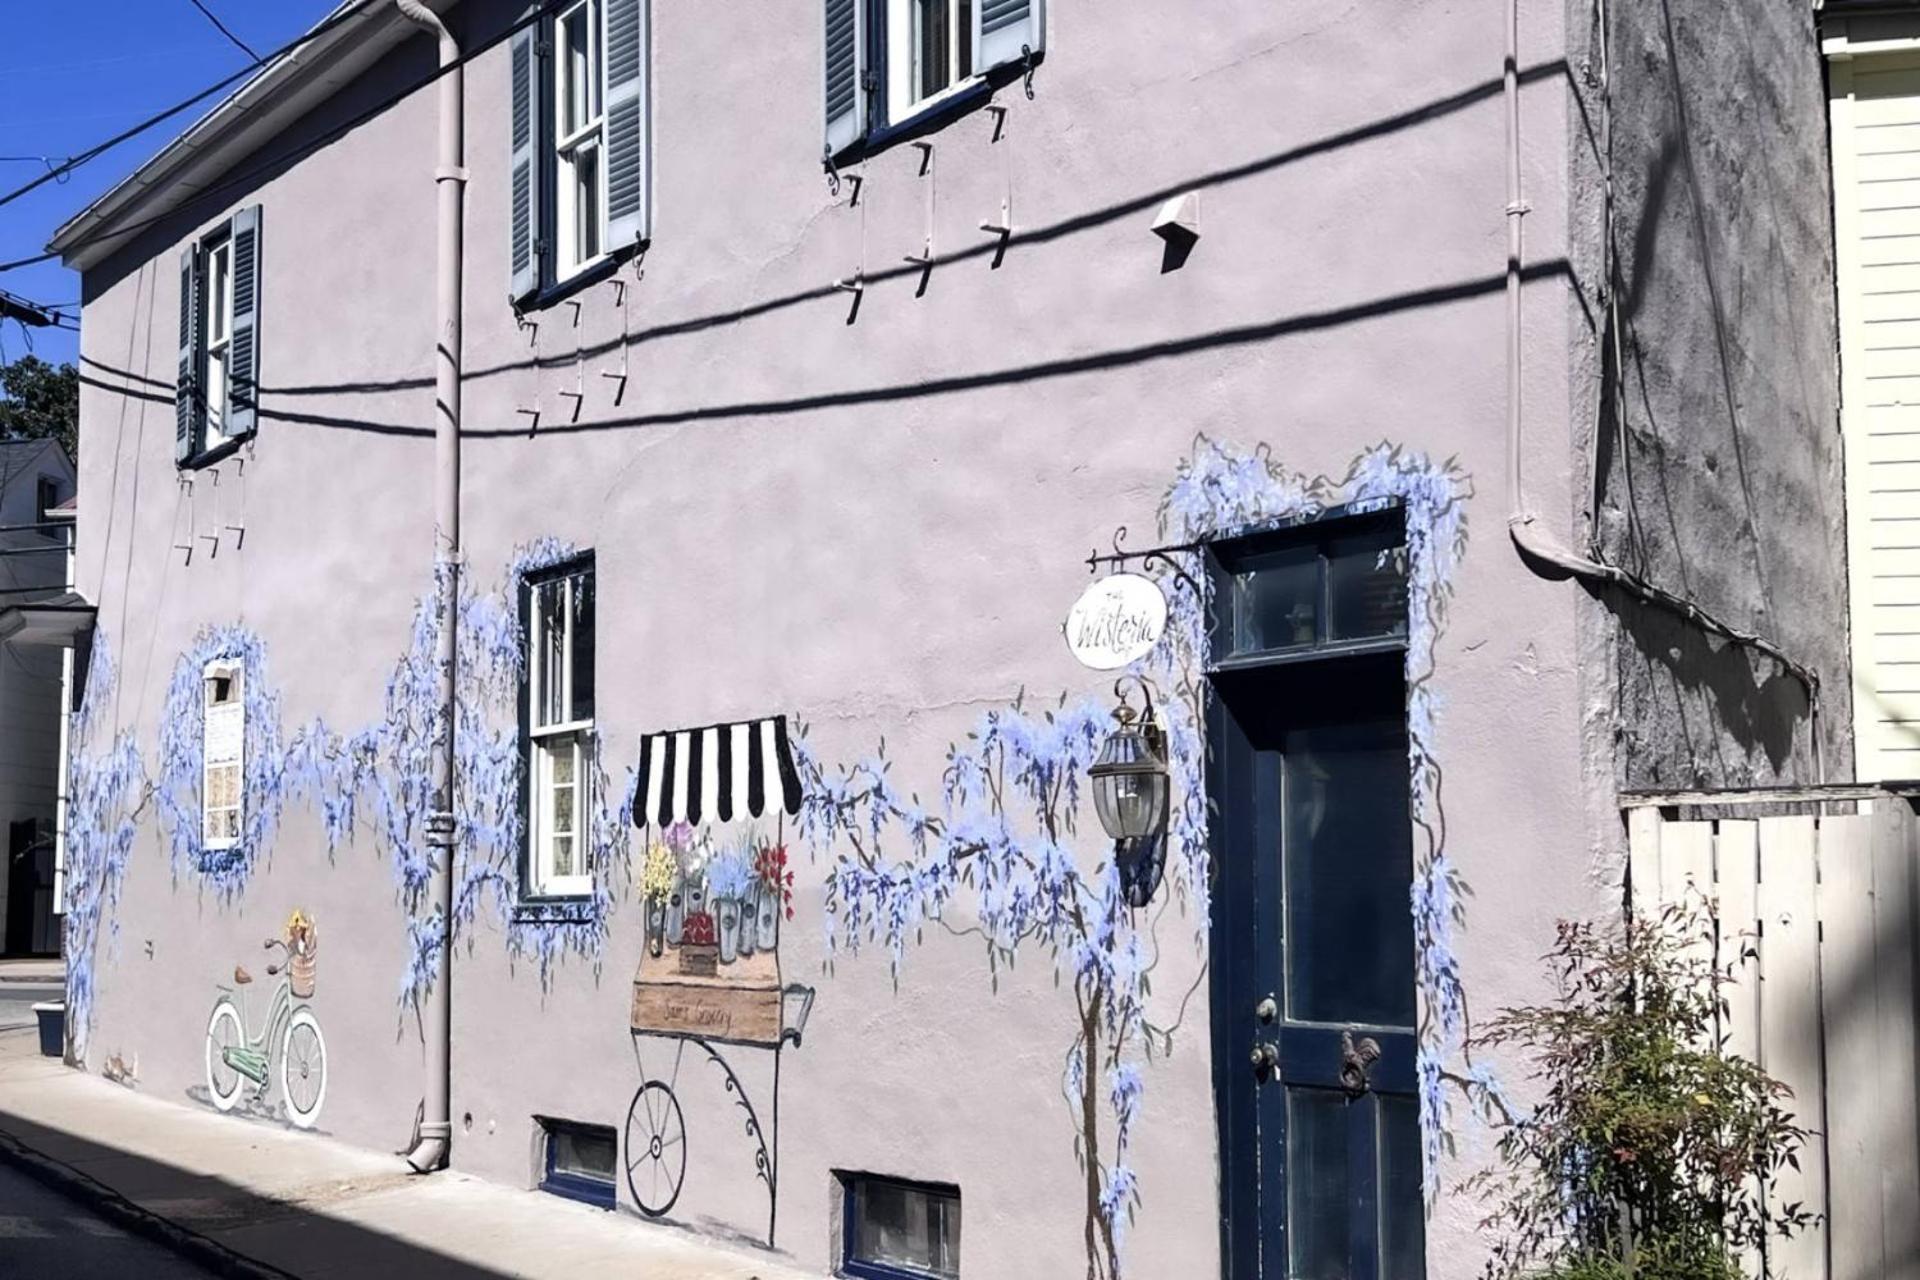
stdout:
POLYGON ((211 1274, 0 1165, 0 1280, 190 1280, 211 1274))

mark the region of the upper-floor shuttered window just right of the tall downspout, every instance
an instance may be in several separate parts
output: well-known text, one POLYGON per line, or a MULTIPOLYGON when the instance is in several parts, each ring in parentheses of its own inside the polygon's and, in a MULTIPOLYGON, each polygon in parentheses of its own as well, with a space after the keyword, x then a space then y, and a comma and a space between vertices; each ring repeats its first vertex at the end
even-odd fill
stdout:
POLYGON ((518 307, 545 305, 647 238, 647 6, 572 0, 509 40, 507 259, 518 307))

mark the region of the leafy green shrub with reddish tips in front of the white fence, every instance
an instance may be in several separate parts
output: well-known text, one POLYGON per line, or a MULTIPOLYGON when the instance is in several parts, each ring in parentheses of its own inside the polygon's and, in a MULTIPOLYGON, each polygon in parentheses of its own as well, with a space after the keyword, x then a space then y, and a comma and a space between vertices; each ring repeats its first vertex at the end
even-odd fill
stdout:
POLYGON ((1519 1050, 1538 1092, 1471 1184, 1492 1203, 1488 1276, 1738 1280, 1741 1253, 1812 1221, 1778 1188, 1807 1136, 1791 1090, 1724 1048, 1741 961, 1715 963, 1695 908, 1561 921, 1546 961, 1555 1000, 1503 1009, 1475 1038, 1519 1050))

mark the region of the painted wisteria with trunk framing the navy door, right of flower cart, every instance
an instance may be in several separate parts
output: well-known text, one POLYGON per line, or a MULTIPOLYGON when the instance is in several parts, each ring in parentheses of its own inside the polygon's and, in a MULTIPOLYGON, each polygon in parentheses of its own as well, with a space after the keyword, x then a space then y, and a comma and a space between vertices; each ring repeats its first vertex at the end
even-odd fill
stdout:
MULTIPOLYGON (((1476 1105, 1496 1086, 1467 1057, 1467 1011, 1453 933, 1463 923, 1463 883, 1446 846, 1442 771, 1434 754, 1434 647, 1446 628, 1453 568, 1465 551, 1471 486, 1452 462, 1377 445, 1346 476, 1309 478, 1265 447, 1235 451, 1200 438, 1160 503, 1165 541, 1190 545, 1254 532, 1332 509, 1400 505, 1407 528, 1407 727, 1411 810, 1425 841, 1417 852, 1413 923, 1421 990, 1421 1123, 1428 1192, 1452 1142, 1444 1080, 1476 1105)), ((1150 566, 1167 599, 1167 635, 1129 674, 1162 691, 1173 808, 1169 883, 1206 950, 1212 892, 1204 741, 1208 670, 1208 574, 1198 551, 1150 566)), ((1160 1036, 1146 1013, 1150 923, 1127 908, 1110 858, 1087 869, 1073 856, 1081 779, 1110 729, 1106 704, 1062 695, 1044 704, 1020 697, 987 712, 947 752, 937 800, 922 802, 891 771, 885 745, 851 766, 828 768, 803 748, 803 833, 831 860, 826 885, 829 944, 839 952, 879 946, 900 973, 908 942, 962 892, 979 919, 987 963, 998 971, 1021 950, 1048 954, 1071 979, 1075 1027, 1062 1086, 1077 1119, 1075 1155, 1085 1176, 1085 1245, 1091 1280, 1117 1280, 1125 1228, 1142 1188, 1129 1165, 1144 1102, 1144 1059, 1160 1036)))

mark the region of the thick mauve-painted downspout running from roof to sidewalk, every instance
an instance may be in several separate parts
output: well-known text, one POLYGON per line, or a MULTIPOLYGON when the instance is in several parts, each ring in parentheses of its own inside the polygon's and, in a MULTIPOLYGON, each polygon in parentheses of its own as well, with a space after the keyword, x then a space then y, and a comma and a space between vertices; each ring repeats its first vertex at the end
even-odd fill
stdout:
POLYGON ((440 40, 440 194, 438 328, 434 359, 434 589, 440 593, 440 633, 434 645, 440 733, 434 741, 432 812, 426 819, 434 856, 432 902, 440 912, 440 977, 426 992, 426 1105, 420 1140, 407 1163, 420 1173, 442 1169, 453 1142, 453 727, 459 714, 453 660, 459 628, 461 562, 461 223, 467 205, 467 86, 461 46, 438 13, 420 0, 394 0, 399 12, 440 40))

